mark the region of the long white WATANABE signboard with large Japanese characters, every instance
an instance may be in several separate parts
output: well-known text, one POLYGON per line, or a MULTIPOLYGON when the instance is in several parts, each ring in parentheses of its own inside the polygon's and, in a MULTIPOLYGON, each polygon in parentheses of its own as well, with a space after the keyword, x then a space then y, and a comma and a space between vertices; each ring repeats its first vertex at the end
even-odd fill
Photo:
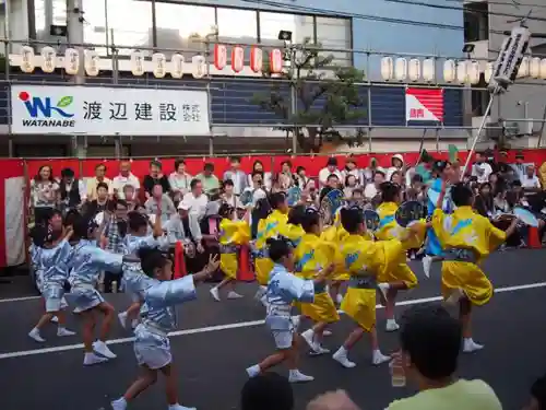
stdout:
POLYGON ((13 133, 207 136, 205 91, 13 85, 13 133))

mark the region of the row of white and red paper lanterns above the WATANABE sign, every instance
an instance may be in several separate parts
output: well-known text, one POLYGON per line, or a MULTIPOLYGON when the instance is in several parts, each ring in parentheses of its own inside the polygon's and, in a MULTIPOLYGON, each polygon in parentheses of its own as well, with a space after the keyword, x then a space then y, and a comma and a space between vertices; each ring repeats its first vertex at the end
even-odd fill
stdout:
MULTIPOLYGON (((43 47, 39 56, 40 69, 46 73, 52 73, 56 69, 63 69, 67 74, 75 75, 80 72, 82 58, 80 51, 75 48, 68 48, 63 56, 58 56, 55 48, 43 47), (59 58, 58 58, 59 57, 59 58)), ((226 45, 216 44, 213 52, 213 65, 217 71, 223 71, 227 68, 228 48, 226 45)), ((23 46, 21 48, 21 70, 25 73, 32 73, 36 69, 34 48, 23 46)), ((234 46, 230 49, 230 69, 233 73, 240 73, 245 69, 245 48, 234 46)), ((269 70, 272 73, 281 73, 284 67, 283 51, 274 48, 269 54, 269 70)), ((140 50, 131 52, 130 58, 131 73, 135 77, 144 75, 146 72, 145 54, 140 50)), ((198 55, 191 58, 192 75, 195 79, 201 79, 207 74, 207 60, 204 56, 198 55)), ((152 72, 155 78, 163 79, 168 73, 174 79, 181 79, 185 72, 186 59, 182 55, 175 52, 170 60, 163 52, 154 52, 151 58, 152 72)), ((263 50, 260 47, 250 48, 250 70, 254 73, 260 73, 263 69, 263 50)), ((96 77, 100 72, 100 57, 95 50, 84 50, 83 68, 90 77, 96 77)))

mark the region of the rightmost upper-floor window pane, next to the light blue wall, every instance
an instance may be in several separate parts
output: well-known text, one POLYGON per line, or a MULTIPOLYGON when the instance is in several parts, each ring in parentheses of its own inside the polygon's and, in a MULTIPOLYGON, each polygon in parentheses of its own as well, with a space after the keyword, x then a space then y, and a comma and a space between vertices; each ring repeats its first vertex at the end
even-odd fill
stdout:
POLYGON ((351 49, 351 20, 317 16, 317 43, 325 49, 323 57, 333 55, 333 65, 347 67, 352 65, 351 51, 330 51, 331 49, 351 49))

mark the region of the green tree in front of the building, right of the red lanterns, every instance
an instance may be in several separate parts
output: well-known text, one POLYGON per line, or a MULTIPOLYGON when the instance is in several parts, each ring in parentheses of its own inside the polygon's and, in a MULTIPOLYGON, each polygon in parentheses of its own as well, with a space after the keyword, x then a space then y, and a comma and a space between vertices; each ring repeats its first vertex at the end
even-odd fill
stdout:
POLYGON ((321 46, 307 38, 298 46, 292 67, 281 74, 272 74, 264 58, 263 75, 272 79, 272 86, 269 93, 259 93, 252 98, 261 109, 274 113, 286 124, 277 129, 284 130, 287 138, 296 134, 304 152, 320 151, 324 141, 343 140, 349 147, 359 145, 366 137, 361 127, 355 127, 349 137, 342 137, 335 129, 340 125, 356 125, 366 116, 357 85, 365 80, 364 71, 336 67, 333 55, 323 55, 321 46), (293 109, 293 96, 296 109, 293 109))

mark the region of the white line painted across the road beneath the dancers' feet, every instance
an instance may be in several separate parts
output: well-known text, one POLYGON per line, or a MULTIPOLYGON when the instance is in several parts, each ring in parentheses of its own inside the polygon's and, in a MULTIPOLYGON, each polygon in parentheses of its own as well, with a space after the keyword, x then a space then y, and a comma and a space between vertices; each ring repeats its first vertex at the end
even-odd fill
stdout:
MULTIPOLYGON (((518 292, 518 291, 525 291, 525 290, 538 289, 538 288, 546 288, 546 282, 498 288, 495 290, 495 293, 518 292)), ((415 298, 415 300, 410 300, 410 301, 396 302, 396 306, 418 305, 422 303, 438 302, 441 300, 442 300, 441 296, 415 298)), ((380 309, 383 306, 377 305, 376 307, 378 309, 380 309)), ((237 329, 237 328, 241 328, 241 327, 260 326, 260 325, 264 325, 264 324, 265 324, 264 320, 241 321, 238 324, 227 324, 227 325, 207 326, 207 327, 194 328, 194 329, 177 330, 177 331, 170 332, 169 336, 170 337, 178 337, 178 336, 188 336, 188 335, 197 335, 197 333, 207 333, 211 331, 230 330, 230 329, 237 329)), ((123 343, 130 343, 132 341, 134 341, 134 338, 121 338, 121 339, 109 340, 109 341, 107 341, 107 344, 123 344, 123 343)), ((2 353, 2 354, 0 354, 0 360, 31 356, 31 355, 37 355, 37 354, 58 353, 58 352, 64 352, 64 351, 69 351, 69 350, 78 350, 78 349, 83 349, 83 343, 58 345, 55 348, 23 350, 20 352, 2 353)))

